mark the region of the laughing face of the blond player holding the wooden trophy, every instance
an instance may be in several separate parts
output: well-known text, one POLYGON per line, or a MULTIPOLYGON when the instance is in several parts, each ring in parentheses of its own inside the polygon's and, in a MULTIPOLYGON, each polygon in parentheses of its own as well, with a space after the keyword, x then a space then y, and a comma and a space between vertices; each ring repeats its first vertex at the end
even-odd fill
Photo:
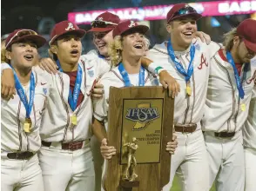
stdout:
POLYGON ((138 32, 123 37, 122 57, 140 58, 145 54, 144 35, 138 32))

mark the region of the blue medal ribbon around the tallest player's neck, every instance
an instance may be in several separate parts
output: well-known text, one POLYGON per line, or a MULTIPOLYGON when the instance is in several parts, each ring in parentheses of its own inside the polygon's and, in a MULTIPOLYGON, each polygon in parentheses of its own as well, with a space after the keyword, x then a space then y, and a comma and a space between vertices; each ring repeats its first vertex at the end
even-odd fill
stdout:
POLYGON ((192 65, 192 63, 193 63, 193 59, 194 59, 194 56, 195 56, 195 46, 192 44, 191 48, 190 48, 190 58, 191 58, 191 60, 190 60, 190 63, 188 65, 187 72, 185 71, 185 69, 183 68, 181 63, 179 63, 177 61, 177 58, 176 58, 176 56, 174 54, 174 50, 172 48, 171 39, 167 43, 167 50, 168 50, 169 56, 172 59, 172 62, 175 63, 176 69, 179 71, 180 74, 185 76, 185 82, 189 82, 189 80, 190 80, 190 78, 192 76, 192 73, 193 73, 193 65, 192 65))

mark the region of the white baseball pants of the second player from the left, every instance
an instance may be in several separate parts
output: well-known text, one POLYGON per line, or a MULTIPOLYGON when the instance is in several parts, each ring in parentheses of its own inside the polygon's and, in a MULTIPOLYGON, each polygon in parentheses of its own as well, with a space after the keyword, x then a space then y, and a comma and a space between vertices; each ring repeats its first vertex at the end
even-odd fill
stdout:
POLYGON ((47 191, 93 191, 95 173, 90 142, 70 151, 42 146, 38 152, 47 191))

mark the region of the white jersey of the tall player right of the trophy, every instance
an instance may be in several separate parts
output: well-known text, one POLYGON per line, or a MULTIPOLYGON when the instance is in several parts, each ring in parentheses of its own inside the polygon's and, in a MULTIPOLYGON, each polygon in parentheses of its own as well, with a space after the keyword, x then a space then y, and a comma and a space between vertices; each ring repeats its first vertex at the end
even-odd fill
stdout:
MULTIPOLYGON (((147 56, 154 62, 149 66, 150 71, 154 72, 158 66, 163 67, 168 73, 179 82, 180 92, 175 97, 174 124, 197 123, 200 128, 200 121, 204 114, 206 90, 209 77, 209 63, 212 56, 219 50, 217 43, 202 43, 195 39, 193 44, 196 51, 193 61, 193 74, 190 79, 192 95, 186 95, 185 76, 181 75, 168 55, 165 43, 157 44, 150 49, 147 56)), ((190 62, 190 47, 185 51, 175 51, 175 55, 187 70, 190 62)))

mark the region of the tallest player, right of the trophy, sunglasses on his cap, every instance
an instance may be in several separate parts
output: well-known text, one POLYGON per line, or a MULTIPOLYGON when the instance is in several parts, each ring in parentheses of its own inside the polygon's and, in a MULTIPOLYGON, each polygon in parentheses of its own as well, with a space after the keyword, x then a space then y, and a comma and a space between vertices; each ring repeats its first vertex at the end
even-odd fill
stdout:
POLYGON ((175 4, 167 14, 170 40, 157 44, 147 56, 154 62, 152 72, 166 69, 180 85, 175 98, 174 128, 179 147, 172 156, 171 179, 163 190, 172 188, 175 173, 183 190, 209 190, 209 165, 200 121, 204 114, 210 59, 220 48, 216 43, 194 39, 196 21, 201 17, 185 3, 175 4), (158 62, 158 63, 157 63, 158 62), (160 63, 160 65, 159 65, 160 63))

